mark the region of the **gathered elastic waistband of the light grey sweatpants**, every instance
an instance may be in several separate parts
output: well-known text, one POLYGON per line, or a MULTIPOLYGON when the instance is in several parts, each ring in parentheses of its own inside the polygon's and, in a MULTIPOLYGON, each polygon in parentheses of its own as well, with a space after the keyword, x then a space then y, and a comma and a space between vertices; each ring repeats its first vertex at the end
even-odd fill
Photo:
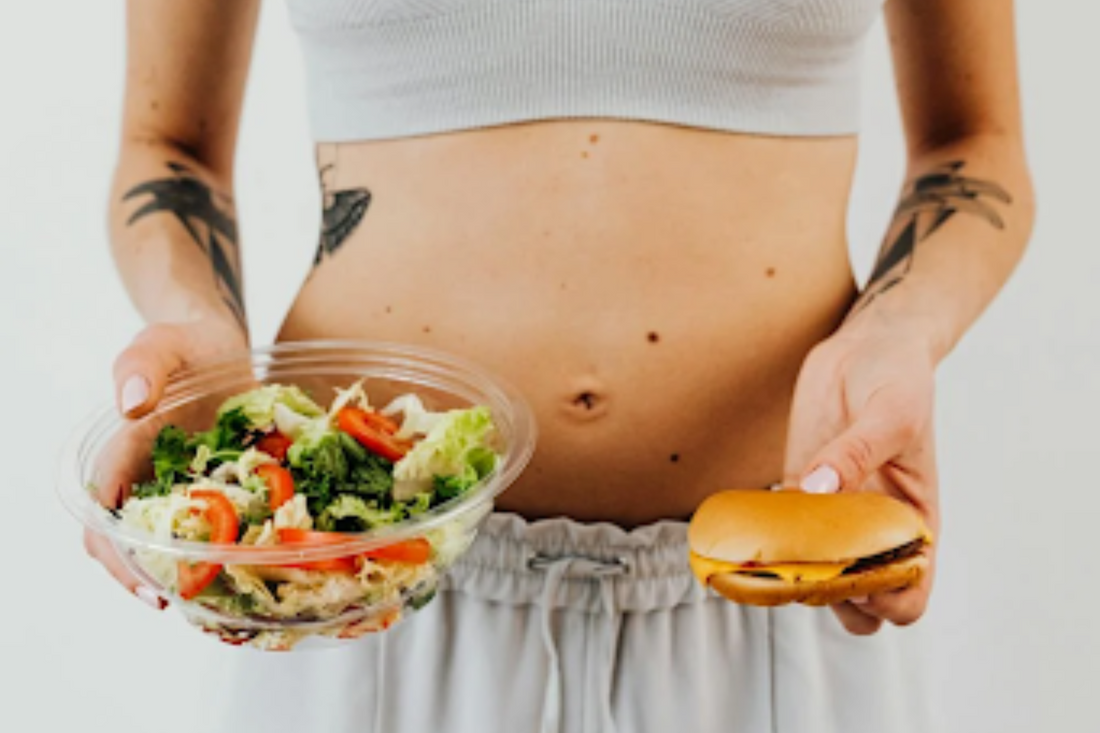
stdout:
POLYGON ((513 605, 550 603, 597 613, 614 594, 620 611, 658 611, 707 597, 688 566, 688 525, 663 521, 626 530, 568 518, 486 517, 455 562, 449 590, 513 605), (547 594, 548 571, 563 566, 547 594))

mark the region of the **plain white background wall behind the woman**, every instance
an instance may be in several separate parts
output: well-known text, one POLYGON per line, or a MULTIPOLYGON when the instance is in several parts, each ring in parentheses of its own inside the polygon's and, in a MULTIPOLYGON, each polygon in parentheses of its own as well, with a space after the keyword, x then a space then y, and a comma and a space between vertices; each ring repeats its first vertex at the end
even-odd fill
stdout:
MULTIPOLYGON (((257 343, 305 275, 318 223, 285 15, 266 3, 238 174, 257 343)), ((939 381, 946 527, 922 631, 953 733, 1100 730, 1100 6, 1020 0, 1019 17, 1038 227, 939 381)), ((194 680, 235 653, 114 587, 54 495, 63 438, 110 397, 113 354, 140 326, 105 226, 122 23, 118 1, 0 8, 4 731, 200 731, 194 680)), ((902 165, 881 28, 867 68, 850 229, 860 273, 902 165)))

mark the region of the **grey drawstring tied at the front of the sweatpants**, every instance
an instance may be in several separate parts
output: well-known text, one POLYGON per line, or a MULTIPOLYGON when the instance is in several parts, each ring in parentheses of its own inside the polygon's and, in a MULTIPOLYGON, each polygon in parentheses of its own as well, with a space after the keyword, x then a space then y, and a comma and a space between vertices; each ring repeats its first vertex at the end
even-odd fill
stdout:
POLYGON ((627 571, 626 562, 623 559, 600 560, 578 555, 565 555, 560 557, 548 556, 541 553, 534 555, 528 561, 530 570, 544 570, 547 573, 546 586, 542 589, 542 644, 549 658, 547 691, 542 699, 542 726, 541 733, 558 733, 561 730, 561 703, 562 703, 562 676, 561 659, 558 654, 558 645, 553 638, 553 600, 561 587, 562 580, 566 576, 580 578, 593 578, 600 581, 601 595, 603 597, 604 610, 610 615, 612 634, 608 641, 608 676, 606 680, 607 704, 605 705, 607 721, 605 731, 614 733, 615 723, 610 719, 610 694, 612 682, 615 674, 615 658, 618 648, 618 634, 622 624, 618 606, 615 602, 615 587, 605 579, 620 576, 627 571))

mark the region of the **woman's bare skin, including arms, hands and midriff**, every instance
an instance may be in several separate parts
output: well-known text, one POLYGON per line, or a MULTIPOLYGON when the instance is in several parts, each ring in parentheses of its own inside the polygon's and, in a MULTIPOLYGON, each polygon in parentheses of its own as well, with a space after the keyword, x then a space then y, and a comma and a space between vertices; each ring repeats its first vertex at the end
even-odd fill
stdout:
MULTIPOLYGON (((1012 3, 890 0, 886 12, 908 140, 902 200, 924 208, 899 209, 883 272, 861 295, 844 221, 855 138, 540 121, 318 146, 326 204, 343 193, 359 208, 348 231, 322 238, 279 338, 425 343, 508 379, 541 435, 499 507, 527 517, 631 527, 782 480, 891 493, 938 532, 935 368, 1020 259, 1032 195, 1012 3)), ((116 366, 120 408, 138 416, 173 370, 248 342, 233 238, 212 267, 179 216, 139 216, 148 195, 127 194, 184 177, 232 215, 256 3, 143 0, 129 15, 111 221, 151 324, 116 366)), ((854 633, 912 623, 931 584, 932 573, 835 611, 854 633)))

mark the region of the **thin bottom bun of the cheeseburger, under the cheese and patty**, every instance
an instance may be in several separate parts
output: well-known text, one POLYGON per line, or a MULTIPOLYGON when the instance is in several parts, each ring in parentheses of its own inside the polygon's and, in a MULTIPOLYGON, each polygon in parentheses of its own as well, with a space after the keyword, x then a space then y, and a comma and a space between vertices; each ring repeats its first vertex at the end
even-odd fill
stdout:
POLYGON ((746 605, 829 605, 872 593, 911 588, 921 582, 927 568, 928 558, 914 555, 832 580, 788 582, 779 578, 719 572, 711 576, 710 584, 730 601, 746 605))

